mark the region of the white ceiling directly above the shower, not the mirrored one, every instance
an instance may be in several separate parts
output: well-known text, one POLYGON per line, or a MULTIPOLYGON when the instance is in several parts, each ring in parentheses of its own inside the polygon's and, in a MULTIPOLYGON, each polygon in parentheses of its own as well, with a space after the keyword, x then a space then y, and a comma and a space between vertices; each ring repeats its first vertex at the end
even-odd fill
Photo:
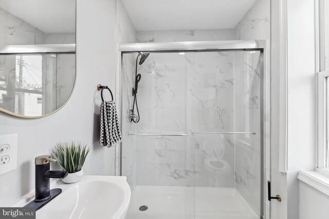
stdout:
POLYGON ((137 30, 235 28, 256 0, 122 0, 137 30))

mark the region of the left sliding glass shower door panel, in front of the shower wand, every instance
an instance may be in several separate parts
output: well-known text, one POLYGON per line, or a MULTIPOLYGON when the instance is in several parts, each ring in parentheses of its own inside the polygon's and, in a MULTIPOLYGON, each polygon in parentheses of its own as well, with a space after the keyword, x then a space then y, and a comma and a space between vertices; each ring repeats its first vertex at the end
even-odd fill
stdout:
POLYGON ((130 122, 129 115, 135 62, 136 54, 123 55, 122 129, 128 133, 122 143, 122 175, 132 188, 127 218, 194 218, 194 150, 187 144, 186 128, 186 84, 194 72, 194 53, 152 53, 137 65, 138 123, 130 122))

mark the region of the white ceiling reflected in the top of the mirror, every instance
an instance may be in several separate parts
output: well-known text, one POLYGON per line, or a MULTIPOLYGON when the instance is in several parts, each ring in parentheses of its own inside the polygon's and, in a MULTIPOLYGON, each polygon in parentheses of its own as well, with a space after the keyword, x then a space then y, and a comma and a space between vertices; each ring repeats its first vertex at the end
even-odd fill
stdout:
POLYGON ((75 0, 0 0, 0 7, 45 33, 76 32, 75 0))

